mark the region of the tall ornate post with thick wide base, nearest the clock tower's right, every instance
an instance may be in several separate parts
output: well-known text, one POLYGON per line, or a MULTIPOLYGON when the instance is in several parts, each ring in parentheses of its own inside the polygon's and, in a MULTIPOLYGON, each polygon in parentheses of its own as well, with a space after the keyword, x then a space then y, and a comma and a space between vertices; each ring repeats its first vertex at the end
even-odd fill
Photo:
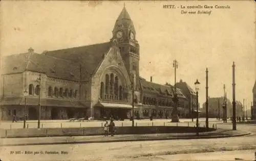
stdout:
POLYGON ((178 96, 177 96, 177 90, 176 90, 176 69, 178 69, 178 62, 174 60, 173 62, 174 67, 174 112, 172 116, 172 122, 179 122, 179 116, 178 116, 178 110, 177 110, 177 102, 178 102, 178 96))

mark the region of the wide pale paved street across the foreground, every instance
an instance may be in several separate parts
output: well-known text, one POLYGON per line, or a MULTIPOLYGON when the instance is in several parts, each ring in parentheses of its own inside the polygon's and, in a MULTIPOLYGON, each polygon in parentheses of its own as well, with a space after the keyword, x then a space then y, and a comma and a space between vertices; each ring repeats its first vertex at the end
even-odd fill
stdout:
MULTIPOLYGON (((220 128, 231 129, 230 124, 218 124, 220 128)), ((238 125, 238 129, 252 132, 245 137, 199 139, 199 140, 169 140, 169 141, 145 141, 145 142, 120 142, 120 143, 93 143, 93 144, 66 144, 43 146, 15 146, 1 147, 0 156, 13 160, 184 160, 193 158, 198 160, 209 159, 212 154, 219 160, 234 160, 234 157, 253 156, 256 151, 255 125, 238 125), (10 154, 11 151, 38 151, 39 154, 10 154), (229 152, 239 150, 239 152, 229 152), (247 150, 246 152, 241 150, 247 150), (248 151, 249 150, 249 151, 248 151), (42 151, 42 154, 40 152, 42 151), (48 151, 48 152, 46 152, 48 151), (50 154, 49 151, 66 151, 68 154, 50 154), (199 152, 227 151, 223 155, 219 153, 195 154, 199 152), (191 155, 180 155, 192 153, 191 155), (177 154, 177 155, 176 155, 177 154), (40 155, 40 156, 38 156, 40 155), (44 157, 42 157, 44 156, 44 157), (190 156, 190 157, 189 157, 190 156), (194 156, 196 158, 194 158, 194 156)), ((54 152, 52 152, 54 153, 54 152)), ((222 152, 223 153, 223 152, 222 152)), ((221 153, 221 154, 222 154, 221 153)))

